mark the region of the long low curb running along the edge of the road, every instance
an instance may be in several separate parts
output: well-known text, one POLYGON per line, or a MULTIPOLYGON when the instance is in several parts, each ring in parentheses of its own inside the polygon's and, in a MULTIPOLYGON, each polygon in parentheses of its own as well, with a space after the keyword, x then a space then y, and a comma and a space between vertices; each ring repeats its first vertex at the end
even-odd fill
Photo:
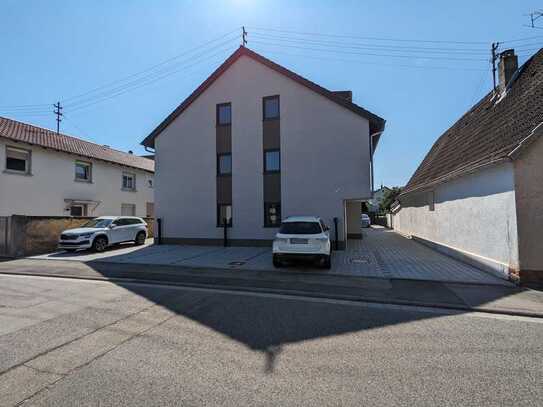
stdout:
POLYGON ((49 273, 25 273, 19 271, 0 271, 0 275, 18 275, 18 276, 33 276, 33 277, 52 277, 52 278, 65 278, 72 280, 89 280, 89 281, 111 281, 119 283, 129 283, 129 284, 147 284, 147 285, 161 285, 161 286, 171 286, 171 287, 187 287, 187 288, 204 288, 204 289, 218 289, 218 290, 228 290, 228 291, 239 291, 247 293, 270 293, 278 295, 290 295, 298 296, 305 298, 316 298, 316 299, 329 299, 329 300, 344 300, 344 301, 353 301, 353 302, 365 302, 372 304, 388 304, 388 305, 403 305, 411 307, 424 307, 424 308, 433 308, 433 309, 446 309, 452 311, 469 311, 469 312, 481 312, 486 314, 495 314, 495 315, 508 315, 508 316, 518 316, 518 317, 529 317, 529 318, 538 318, 543 319, 543 313, 530 312, 530 311, 519 311, 512 310, 507 308, 488 308, 480 306, 462 306, 449 303, 436 303, 436 302, 424 302, 424 301, 409 301, 409 300, 397 300, 397 299, 378 299, 372 297, 364 297, 357 295, 347 295, 347 294, 335 294, 331 295, 328 293, 319 293, 311 291, 302 291, 302 290, 290 290, 290 289, 277 289, 277 288, 259 288, 259 287, 241 287, 235 285, 224 285, 224 284, 205 284, 205 283, 187 283, 187 282, 177 282, 177 281, 165 281, 165 280, 156 280, 156 279, 144 279, 144 278, 127 278, 127 277, 94 277, 94 276, 80 276, 80 275, 71 275, 71 274, 49 274, 49 273))

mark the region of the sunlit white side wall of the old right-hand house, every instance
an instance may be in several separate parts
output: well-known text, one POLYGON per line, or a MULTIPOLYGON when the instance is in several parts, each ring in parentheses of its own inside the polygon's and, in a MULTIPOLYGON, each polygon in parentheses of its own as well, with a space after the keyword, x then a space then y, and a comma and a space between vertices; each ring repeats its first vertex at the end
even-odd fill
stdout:
POLYGON ((394 229, 450 249, 504 277, 518 269, 513 164, 488 166, 400 198, 394 229), (433 201, 433 210, 432 208, 433 201))

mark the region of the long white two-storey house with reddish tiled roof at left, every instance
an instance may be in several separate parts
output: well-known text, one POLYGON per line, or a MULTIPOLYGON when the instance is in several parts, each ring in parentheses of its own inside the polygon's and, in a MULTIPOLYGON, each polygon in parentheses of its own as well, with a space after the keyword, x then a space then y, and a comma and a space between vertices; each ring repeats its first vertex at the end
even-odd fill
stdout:
POLYGON ((153 215, 153 160, 0 117, 0 163, 0 216, 153 215))

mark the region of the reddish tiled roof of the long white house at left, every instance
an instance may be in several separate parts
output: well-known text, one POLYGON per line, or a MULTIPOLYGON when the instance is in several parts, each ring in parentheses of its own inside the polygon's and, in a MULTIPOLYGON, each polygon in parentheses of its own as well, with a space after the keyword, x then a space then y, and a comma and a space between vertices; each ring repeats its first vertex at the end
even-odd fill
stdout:
POLYGON ((154 172, 155 162, 148 158, 114 150, 66 134, 57 134, 42 127, 0 117, 0 138, 50 148, 81 157, 107 161, 144 171, 154 172))

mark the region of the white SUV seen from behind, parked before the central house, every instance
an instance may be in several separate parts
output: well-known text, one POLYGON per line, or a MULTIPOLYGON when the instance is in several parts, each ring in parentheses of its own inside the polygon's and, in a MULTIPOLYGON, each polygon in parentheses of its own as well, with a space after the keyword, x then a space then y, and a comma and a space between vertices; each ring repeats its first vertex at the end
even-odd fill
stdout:
POLYGON ((273 241, 273 265, 281 267, 285 260, 318 261, 329 269, 331 261, 329 228, 316 216, 290 216, 281 222, 273 241))

